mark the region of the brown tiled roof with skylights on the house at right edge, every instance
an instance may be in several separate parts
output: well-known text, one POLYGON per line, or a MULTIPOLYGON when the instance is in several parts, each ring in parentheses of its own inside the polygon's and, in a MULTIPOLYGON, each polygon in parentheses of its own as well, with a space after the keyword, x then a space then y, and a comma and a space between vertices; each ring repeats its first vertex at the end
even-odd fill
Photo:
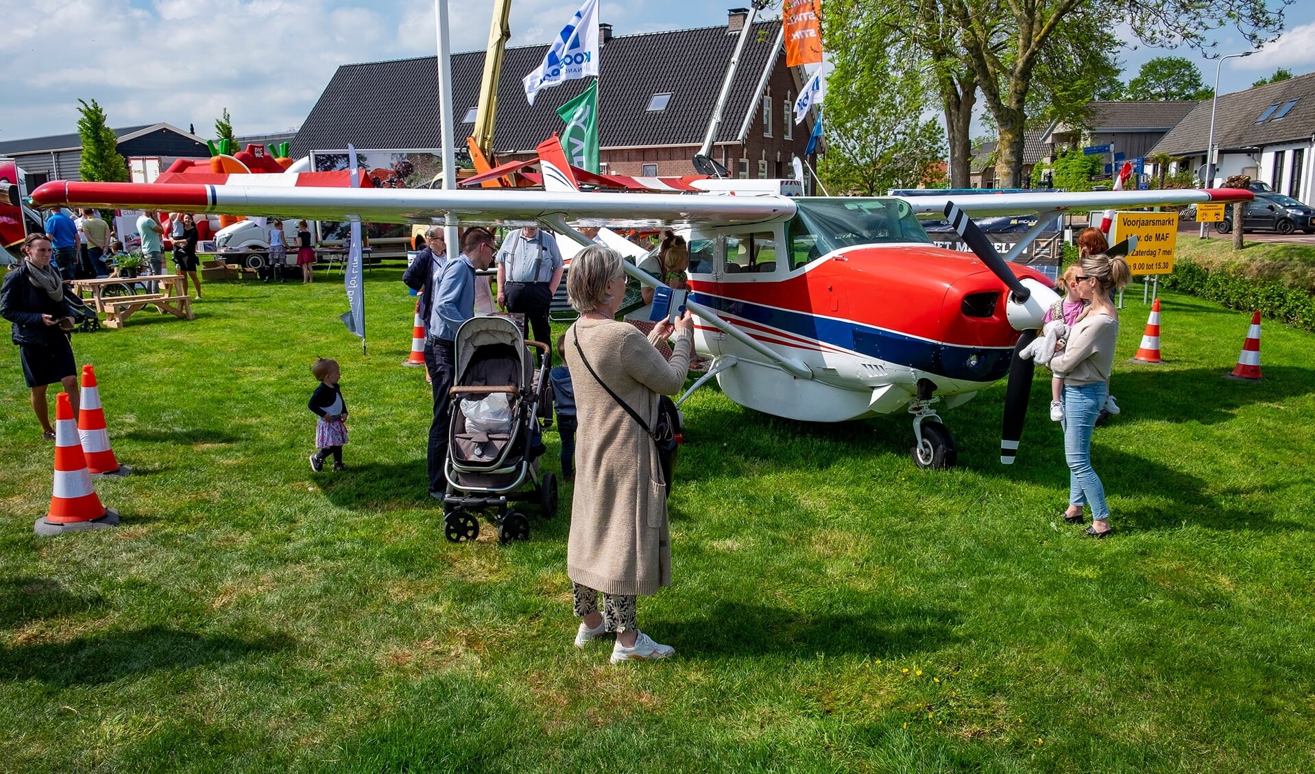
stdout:
MULTIPOLYGON (((1211 100, 1198 104, 1151 148, 1151 152, 1176 156, 1205 155, 1206 145, 1210 142, 1210 108, 1211 100)), ((1219 96, 1215 142, 1220 148, 1304 141, 1312 134, 1315 134, 1315 72, 1219 96), (1282 118, 1270 117, 1256 124, 1256 118, 1270 105, 1278 105, 1281 109, 1293 100, 1297 100, 1297 104, 1282 118)))

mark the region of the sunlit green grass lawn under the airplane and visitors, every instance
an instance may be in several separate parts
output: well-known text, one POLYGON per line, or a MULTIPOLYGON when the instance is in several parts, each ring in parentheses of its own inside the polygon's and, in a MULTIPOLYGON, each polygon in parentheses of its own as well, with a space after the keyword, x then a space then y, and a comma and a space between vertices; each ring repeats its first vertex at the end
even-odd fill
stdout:
MULTIPOLYGON (((0 769, 7 771, 1315 770, 1315 335, 1164 297, 1166 364, 1130 364, 1097 431, 1111 540, 1068 493, 1038 376, 1019 461, 1003 385, 945 411, 802 424, 686 403, 675 585, 640 601, 667 662, 571 647, 562 514, 529 543, 442 535, 429 388, 397 269, 216 283, 197 319, 78 334, 125 480, 122 526, 38 539, 51 445, 0 359, 0 769), (350 470, 314 474, 317 355, 342 364, 350 470)), ((7 332, 7 331, 0 331, 7 332)), ((558 439, 546 436, 548 467, 558 439)))

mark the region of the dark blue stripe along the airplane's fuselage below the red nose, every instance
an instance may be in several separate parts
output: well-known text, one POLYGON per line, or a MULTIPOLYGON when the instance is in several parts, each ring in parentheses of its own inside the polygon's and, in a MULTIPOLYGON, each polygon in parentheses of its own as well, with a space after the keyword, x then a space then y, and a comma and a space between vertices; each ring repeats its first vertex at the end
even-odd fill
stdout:
POLYGON ((1009 373, 1009 364, 1014 356, 1013 348, 961 347, 928 342, 853 321, 777 309, 739 298, 694 293, 693 300, 767 327, 947 378, 995 381, 1009 373), (969 359, 973 356, 977 356, 977 361, 969 365, 969 359))

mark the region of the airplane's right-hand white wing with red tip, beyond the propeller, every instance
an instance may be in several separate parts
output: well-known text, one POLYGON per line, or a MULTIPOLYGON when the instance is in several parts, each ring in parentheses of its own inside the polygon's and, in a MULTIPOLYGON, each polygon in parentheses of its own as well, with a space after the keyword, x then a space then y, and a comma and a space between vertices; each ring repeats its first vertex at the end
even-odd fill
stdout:
POLYGON ((903 196, 915 214, 944 217, 953 201, 969 217, 1022 216, 1066 210, 1136 209, 1144 206, 1202 204, 1210 201, 1251 201, 1252 192, 1241 188, 1178 188, 1162 191, 1086 191, 1060 193, 978 193, 949 196, 903 196))

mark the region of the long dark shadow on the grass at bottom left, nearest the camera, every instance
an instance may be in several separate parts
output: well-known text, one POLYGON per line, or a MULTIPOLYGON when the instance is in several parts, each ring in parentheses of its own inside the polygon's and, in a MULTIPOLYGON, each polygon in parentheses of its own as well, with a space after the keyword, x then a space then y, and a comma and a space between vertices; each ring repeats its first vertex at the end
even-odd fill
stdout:
POLYGON ((107 632, 62 643, 0 648, 0 679, 103 685, 126 675, 180 670, 288 650, 288 635, 255 639, 197 635, 162 626, 107 632))

